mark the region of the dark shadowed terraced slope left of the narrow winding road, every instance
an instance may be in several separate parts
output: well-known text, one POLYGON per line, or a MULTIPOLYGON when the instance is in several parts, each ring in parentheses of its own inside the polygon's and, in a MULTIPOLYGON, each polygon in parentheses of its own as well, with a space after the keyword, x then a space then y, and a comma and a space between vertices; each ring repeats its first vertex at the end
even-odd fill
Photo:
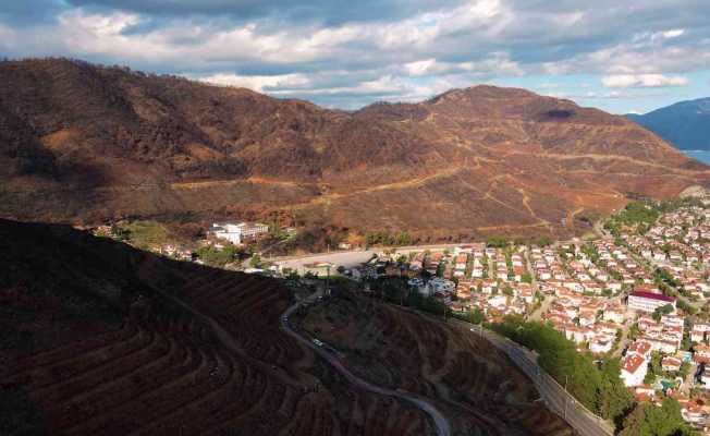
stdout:
POLYGON ((276 281, 11 221, 0 261, 3 435, 432 434, 281 332, 276 281))

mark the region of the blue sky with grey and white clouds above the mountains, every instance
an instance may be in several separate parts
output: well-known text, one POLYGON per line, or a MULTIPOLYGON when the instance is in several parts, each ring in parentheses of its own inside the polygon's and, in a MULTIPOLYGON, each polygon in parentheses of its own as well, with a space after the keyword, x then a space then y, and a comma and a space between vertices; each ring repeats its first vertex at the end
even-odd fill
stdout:
POLYGON ((0 57, 342 109, 494 84, 613 113, 710 96, 708 0, 3 0, 0 57))

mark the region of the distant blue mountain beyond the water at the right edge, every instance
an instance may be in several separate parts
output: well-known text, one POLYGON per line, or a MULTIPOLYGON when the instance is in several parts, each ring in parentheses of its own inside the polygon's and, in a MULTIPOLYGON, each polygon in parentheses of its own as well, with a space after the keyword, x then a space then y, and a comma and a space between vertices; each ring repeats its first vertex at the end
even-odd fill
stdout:
POLYGON ((710 97, 626 117, 680 149, 710 150, 710 97))

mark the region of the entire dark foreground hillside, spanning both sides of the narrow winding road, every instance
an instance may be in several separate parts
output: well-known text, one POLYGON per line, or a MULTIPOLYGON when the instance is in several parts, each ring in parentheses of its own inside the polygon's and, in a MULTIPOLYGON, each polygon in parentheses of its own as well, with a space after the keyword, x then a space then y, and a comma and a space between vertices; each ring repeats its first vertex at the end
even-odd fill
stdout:
MULTIPOLYGON (((280 319, 294 292, 282 281, 2 219, 0 262, 3 436, 436 434, 423 410, 350 382, 287 335, 280 319)), ((437 374, 415 378, 413 365, 384 365, 393 377, 370 374, 370 383, 417 392, 455 434, 572 433, 486 340, 367 300, 384 326, 375 342, 387 338, 391 355, 437 374), (455 364, 441 359, 448 354, 455 364)), ((372 341, 367 331, 353 336, 372 341)), ((348 348, 335 354, 354 368, 362 359, 348 348)))

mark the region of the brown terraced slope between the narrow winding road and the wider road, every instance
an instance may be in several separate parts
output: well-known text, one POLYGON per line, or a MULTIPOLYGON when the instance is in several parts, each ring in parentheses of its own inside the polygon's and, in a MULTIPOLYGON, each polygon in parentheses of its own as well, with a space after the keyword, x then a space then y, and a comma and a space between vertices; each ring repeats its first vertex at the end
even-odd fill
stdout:
POLYGON ((301 314, 299 325, 363 378, 433 399, 461 434, 572 434, 534 401, 535 387, 507 358, 473 332, 353 293, 301 314))

